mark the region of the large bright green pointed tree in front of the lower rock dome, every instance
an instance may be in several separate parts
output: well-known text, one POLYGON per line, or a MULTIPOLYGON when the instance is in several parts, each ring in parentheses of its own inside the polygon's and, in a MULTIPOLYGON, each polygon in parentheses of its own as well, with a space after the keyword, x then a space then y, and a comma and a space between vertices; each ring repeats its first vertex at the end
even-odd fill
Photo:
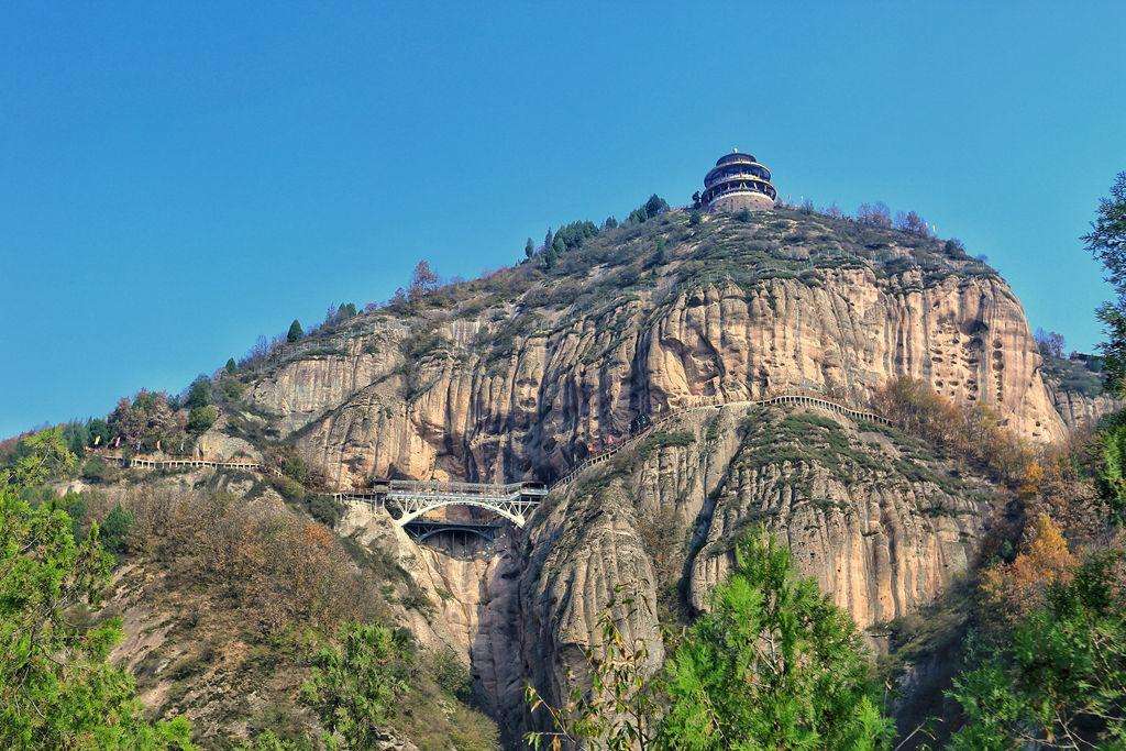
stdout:
POLYGON ((874 749, 891 740, 848 614, 763 533, 735 546, 712 610, 665 665, 678 749, 874 749))

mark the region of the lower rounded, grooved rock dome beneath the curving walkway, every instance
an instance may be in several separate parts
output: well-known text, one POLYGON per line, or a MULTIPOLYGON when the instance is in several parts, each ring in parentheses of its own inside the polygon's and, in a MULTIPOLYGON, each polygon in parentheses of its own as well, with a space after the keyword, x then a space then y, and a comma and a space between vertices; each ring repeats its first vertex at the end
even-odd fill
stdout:
POLYGON ((988 482, 891 429, 778 409, 678 418, 536 512, 493 572, 516 583, 481 604, 480 686, 501 727, 534 726, 524 681, 561 701, 607 613, 656 670, 661 618, 706 609, 733 543, 758 526, 861 628, 884 624, 965 572, 993 502, 988 482))

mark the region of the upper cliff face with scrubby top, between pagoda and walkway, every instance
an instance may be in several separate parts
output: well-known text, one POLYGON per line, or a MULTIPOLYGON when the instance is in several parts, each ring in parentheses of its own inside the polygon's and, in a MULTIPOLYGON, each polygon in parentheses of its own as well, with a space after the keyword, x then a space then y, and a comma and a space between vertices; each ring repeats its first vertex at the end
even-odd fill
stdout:
POLYGON ((549 477, 688 397, 864 403, 901 374, 1031 439, 1064 433, 1019 302, 936 241, 776 212, 589 243, 283 350, 252 404, 343 485, 549 477))

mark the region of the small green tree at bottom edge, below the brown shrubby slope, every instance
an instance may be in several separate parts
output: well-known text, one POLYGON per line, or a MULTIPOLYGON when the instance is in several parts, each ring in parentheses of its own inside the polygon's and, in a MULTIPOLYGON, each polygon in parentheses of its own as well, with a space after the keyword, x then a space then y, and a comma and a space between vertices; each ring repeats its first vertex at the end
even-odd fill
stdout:
POLYGON ((385 626, 345 624, 313 656, 302 697, 321 718, 329 748, 375 748, 408 690, 408 638, 385 626))

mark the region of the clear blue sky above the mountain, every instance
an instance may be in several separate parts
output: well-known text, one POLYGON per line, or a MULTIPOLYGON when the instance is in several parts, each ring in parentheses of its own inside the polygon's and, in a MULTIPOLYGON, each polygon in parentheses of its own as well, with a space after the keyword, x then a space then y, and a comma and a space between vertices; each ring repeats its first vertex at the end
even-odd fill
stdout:
POLYGON ((419 258, 673 204, 732 145, 914 208, 1098 341, 1126 10, 1045 3, 6 3, 0 435, 179 391, 419 258))

